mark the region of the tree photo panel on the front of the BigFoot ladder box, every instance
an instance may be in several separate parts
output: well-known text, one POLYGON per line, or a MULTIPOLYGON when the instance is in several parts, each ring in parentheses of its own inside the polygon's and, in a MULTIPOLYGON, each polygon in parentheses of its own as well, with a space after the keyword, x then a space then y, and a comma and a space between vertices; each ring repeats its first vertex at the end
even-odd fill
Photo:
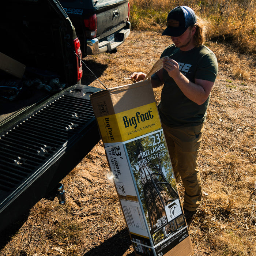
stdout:
POLYGON ((126 148, 148 227, 157 241, 185 224, 163 132, 128 142, 126 148))

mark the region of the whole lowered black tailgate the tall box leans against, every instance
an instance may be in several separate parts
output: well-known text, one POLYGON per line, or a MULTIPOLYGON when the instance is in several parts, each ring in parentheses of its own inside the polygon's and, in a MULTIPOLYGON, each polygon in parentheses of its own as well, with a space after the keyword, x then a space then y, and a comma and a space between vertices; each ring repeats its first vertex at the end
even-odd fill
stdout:
POLYGON ((99 141, 89 95, 77 84, 0 135, 0 227, 47 196, 99 141))

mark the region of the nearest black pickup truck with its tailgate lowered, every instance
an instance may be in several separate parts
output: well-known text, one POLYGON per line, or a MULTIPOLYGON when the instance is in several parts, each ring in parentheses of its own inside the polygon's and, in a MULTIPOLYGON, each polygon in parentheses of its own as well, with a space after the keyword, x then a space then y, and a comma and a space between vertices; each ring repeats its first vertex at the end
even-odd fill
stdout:
POLYGON ((65 203, 61 180, 98 143, 74 26, 57 0, 0 8, 0 232, 42 198, 65 203))

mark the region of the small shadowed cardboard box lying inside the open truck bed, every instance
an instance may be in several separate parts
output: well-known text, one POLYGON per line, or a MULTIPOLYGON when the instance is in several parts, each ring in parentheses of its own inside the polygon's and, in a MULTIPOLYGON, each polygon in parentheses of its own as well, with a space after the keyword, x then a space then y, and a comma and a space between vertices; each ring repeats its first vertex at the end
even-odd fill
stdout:
POLYGON ((22 79, 26 66, 0 52, 0 69, 22 79))

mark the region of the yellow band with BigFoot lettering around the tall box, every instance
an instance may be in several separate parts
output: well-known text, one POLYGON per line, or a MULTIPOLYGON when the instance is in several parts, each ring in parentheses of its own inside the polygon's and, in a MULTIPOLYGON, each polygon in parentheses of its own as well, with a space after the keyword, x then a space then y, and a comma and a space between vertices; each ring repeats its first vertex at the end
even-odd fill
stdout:
POLYGON ((97 117, 103 143, 124 142, 161 128, 155 102, 104 117, 97 117))

